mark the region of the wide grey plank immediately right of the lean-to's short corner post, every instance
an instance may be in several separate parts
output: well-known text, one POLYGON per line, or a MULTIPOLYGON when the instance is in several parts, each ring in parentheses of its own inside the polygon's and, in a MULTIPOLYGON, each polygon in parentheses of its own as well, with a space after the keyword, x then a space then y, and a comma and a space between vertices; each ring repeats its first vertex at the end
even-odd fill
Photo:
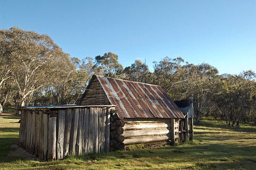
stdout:
POLYGON ((57 123, 57 159, 63 159, 63 142, 65 133, 65 116, 66 110, 58 111, 58 123, 57 123))

